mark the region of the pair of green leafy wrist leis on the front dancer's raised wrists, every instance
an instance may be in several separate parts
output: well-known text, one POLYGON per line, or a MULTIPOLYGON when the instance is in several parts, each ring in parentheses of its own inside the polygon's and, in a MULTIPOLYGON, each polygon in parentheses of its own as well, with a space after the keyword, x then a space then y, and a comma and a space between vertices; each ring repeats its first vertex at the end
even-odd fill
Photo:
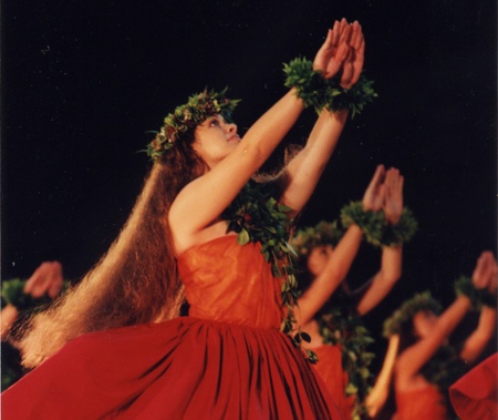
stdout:
POLYGON ((354 117, 377 96, 372 88, 373 81, 367 80, 364 74, 360 75, 351 89, 344 89, 340 85, 339 75, 325 80, 321 72, 313 70, 313 63, 305 58, 284 63, 283 72, 287 75, 284 85, 295 88, 297 95, 303 100, 304 105, 313 106, 319 114, 323 109, 332 112, 349 110, 354 117))

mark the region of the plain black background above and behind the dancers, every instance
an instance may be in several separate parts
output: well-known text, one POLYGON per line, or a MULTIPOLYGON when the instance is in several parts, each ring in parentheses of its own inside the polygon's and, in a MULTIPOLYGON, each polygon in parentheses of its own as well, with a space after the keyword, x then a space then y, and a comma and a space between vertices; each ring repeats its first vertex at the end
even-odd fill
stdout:
MULTIPOLYGON (((448 303, 455 277, 496 250, 494 0, 3 1, 2 278, 46 259, 81 277, 141 189, 146 131, 228 85, 243 133, 286 92, 282 62, 313 58, 342 17, 363 27, 378 99, 349 122, 301 223, 335 218, 378 163, 398 167, 419 232, 372 319, 426 288, 448 303)), ((377 266, 362 249, 351 277, 377 266)))

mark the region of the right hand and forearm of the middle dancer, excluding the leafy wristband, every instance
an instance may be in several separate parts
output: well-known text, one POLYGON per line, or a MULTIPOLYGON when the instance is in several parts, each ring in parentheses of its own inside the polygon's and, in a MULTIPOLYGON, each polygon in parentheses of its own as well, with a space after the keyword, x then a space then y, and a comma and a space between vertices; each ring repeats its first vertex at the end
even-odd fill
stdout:
MULTIPOLYGON (((393 226, 397 224, 403 212, 403 183, 404 178, 398 170, 390 168, 386 172, 383 184, 385 199, 382 206, 386 222, 393 226)), ((360 315, 364 315, 375 308, 401 277, 403 259, 401 245, 383 246, 381 258, 381 269, 375 274, 369 289, 356 306, 360 315)))

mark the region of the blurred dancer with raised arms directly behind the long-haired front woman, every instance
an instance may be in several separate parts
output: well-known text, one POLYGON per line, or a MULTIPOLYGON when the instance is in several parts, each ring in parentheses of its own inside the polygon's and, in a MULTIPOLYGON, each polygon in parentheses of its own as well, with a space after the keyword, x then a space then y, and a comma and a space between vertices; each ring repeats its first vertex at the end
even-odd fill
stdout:
MULTIPOLYGON (((361 203, 364 217, 378 215, 385 228, 395 228, 403 214, 403 182, 398 170, 385 171, 378 165, 361 203)), ((362 402, 370 387, 370 378, 359 375, 361 370, 367 372, 371 361, 371 355, 365 352, 370 337, 357 332, 359 328, 364 330, 360 317, 382 301, 402 272, 402 244, 382 246, 381 269, 372 279, 354 293, 344 288, 336 294, 339 298, 334 294, 328 301, 357 254, 363 238, 360 218, 340 240, 339 232, 333 232, 330 224, 320 223, 313 229, 301 229, 292 242, 301 266, 307 267, 300 279, 303 294, 298 299, 299 319, 303 331, 311 337, 309 348, 318 355, 317 370, 346 419, 363 414, 362 402)))

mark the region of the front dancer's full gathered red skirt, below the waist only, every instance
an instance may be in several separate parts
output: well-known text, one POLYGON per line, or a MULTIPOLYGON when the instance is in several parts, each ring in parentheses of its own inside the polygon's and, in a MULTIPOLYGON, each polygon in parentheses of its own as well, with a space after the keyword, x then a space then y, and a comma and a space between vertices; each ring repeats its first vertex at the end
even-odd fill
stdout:
POLYGON ((2 395, 2 419, 341 419, 277 329, 177 318, 69 342, 2 395))

